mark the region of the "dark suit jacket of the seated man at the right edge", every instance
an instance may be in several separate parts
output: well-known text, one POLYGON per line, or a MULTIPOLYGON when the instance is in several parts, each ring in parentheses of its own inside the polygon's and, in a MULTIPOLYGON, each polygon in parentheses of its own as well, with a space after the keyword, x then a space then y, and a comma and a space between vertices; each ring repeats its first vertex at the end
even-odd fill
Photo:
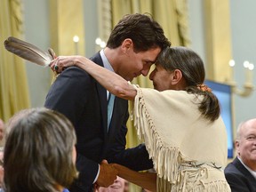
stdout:
POLYGON ((232 192, 256 192, 256 180, 236 157, 225 168, 225 176, 232 192))

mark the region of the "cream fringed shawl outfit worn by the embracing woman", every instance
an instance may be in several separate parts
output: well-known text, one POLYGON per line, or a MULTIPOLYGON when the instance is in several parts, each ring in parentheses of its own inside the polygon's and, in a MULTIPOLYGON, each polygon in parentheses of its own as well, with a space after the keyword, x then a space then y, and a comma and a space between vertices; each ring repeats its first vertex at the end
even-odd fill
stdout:
POLYGON ((158 191, 230 191, 223 170, 213 167, 224 167, 227 161, 227 135, 221 117, 213 123, 206 120, 198 110, 202 98, 194 94, 136 89, 132 116, 154 162, 158 191), (191 164, 200 166, 191 168, 191 164), (193 179, 194 172, 197 178, 193 179), (163 186, 163 182, 167 184, 163 186), (189 187, 191 183, 199 183, 197 189, 189 187))

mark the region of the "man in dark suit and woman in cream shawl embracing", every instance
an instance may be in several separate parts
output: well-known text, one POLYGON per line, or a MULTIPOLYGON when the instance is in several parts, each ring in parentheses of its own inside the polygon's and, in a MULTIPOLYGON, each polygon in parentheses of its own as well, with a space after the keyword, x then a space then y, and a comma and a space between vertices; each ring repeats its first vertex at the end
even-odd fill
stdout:
POLYGON ((60 186, 91 192, 118 175, 151 191, 230 191, 222 169, 226 128, 218 99, 204 85, 204 63, 196 52, 170 46, 155 20, 135 13, 116 24, 107 47, 90 60, 78 55, 52 60, 60 75, 44 107, 74 125, 79 172, 69 188, 60 186), (149 78, 155 89, 130 83, 147 76, 153 64, 149 78), (125 148, 127 100, 144 141, 135 148, 125 148), (156 172, 138 172, 151 168, 156 172))

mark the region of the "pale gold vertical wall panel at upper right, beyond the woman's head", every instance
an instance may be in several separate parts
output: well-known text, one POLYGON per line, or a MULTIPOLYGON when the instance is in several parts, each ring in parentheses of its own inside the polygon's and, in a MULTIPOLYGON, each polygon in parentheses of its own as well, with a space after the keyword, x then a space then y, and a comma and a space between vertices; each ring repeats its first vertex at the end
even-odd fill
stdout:
POLYGON ((227 82, 232 59, 229 1, 205 0, 204 23, 207 78, 227 82))

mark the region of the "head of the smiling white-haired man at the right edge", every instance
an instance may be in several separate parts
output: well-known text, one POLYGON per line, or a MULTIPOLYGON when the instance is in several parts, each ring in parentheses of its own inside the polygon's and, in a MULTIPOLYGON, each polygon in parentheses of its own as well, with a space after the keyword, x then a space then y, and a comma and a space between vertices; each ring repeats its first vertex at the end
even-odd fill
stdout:
POLYGON ((236 150, 244 164, 256 171, 256 119, 245 123, 236 140, 236 150))

